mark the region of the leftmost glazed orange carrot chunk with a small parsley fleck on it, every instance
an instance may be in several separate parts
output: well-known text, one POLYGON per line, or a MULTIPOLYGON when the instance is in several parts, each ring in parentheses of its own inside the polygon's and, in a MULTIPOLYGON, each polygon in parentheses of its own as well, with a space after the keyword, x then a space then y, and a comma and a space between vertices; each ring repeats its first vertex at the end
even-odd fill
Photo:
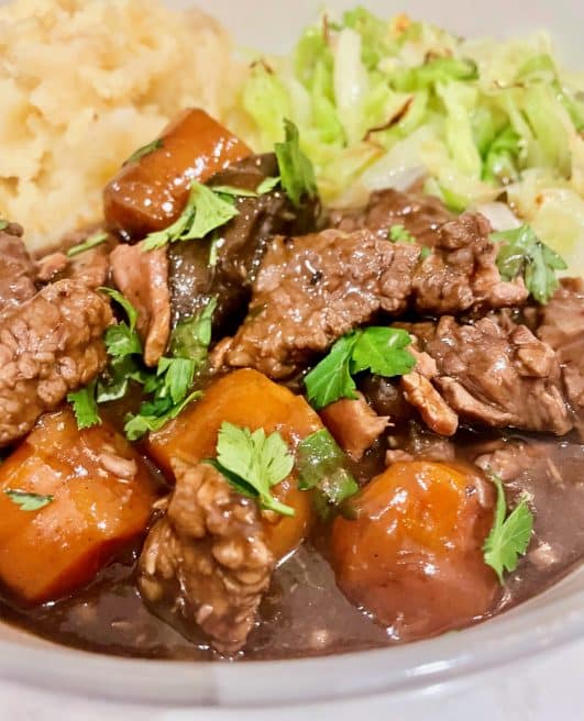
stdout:
POLYGON ((67 596, 145 532, 156 498, 109 425, 79 431, 68 408, 43 415, 0 466, 0 585, 21 604, 67 596), (24 510, 21 493, 46 504, 24 510))

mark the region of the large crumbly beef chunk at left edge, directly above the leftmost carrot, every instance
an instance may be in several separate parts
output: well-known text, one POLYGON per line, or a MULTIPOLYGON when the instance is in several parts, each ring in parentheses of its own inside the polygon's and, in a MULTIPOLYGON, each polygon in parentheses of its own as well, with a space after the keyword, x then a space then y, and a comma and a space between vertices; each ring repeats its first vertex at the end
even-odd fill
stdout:
POLYGON ((74 280, 43 288, 0 323, 0 446, 21 437, 106 365, 101 296, 74 280))

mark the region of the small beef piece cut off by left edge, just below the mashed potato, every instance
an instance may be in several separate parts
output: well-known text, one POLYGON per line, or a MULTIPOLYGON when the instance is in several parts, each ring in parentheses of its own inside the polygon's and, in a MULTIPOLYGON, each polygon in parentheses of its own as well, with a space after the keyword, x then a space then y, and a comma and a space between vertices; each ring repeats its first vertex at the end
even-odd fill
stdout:
POLYGON ((22 241, 22 228, 10 223, 0 231, 0 319, 34 296, 35 274, 22 241))

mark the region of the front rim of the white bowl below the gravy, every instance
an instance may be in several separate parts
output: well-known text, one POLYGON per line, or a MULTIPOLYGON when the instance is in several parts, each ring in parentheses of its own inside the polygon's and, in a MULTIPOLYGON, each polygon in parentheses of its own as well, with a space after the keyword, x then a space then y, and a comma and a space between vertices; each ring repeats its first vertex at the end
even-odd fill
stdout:
POLYGON ((584 566, 488 621, 386 648, 289 661, 180 662, 9 640, 0 641, 0 677, 54 694, 166 708, 283 708, 408 695, 448 687, 584 637, 584 588, 570 590, 579 576, 584 579, 584 566))

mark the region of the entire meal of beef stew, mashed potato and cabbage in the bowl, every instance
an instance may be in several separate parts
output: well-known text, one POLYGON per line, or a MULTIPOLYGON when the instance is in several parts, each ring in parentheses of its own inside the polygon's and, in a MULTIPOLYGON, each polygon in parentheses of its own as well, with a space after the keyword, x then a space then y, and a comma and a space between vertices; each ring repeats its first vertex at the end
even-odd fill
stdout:
POLYGON ((139 0, 0 35, 4 621, 316 656, 581 564, 584 84, 544 36, 357 8, 242 58, 139 0))

